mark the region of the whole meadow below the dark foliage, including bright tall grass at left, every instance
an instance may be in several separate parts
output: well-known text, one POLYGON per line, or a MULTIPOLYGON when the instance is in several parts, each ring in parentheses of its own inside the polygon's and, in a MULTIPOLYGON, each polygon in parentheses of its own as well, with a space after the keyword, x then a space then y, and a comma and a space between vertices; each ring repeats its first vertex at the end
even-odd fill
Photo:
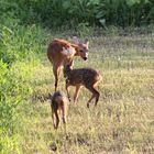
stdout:
MULTIPOLYGON (((147 26, 146 26, 147 28, 147 26)), ((154 37, 148 29, 50 31, 37 25, 0 25, 1 154, 153 154, 154 37), (69 103, 67 133, 53 129, 48 92, 54 91, 46 48, 54 37, 90 41, 89 59, 74 67, 92 67, 102 75, 97 107, 69 103)), ((65 90, 61 77, 58 89, 65 90)), ((70 87, 73 97, 74 87, 70 87)))

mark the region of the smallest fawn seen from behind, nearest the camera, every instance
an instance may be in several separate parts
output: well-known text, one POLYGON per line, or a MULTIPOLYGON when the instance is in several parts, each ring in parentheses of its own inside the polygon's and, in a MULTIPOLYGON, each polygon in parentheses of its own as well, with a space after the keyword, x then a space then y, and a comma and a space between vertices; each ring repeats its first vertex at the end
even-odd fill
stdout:
POLYGON ((52 109, 52 119, 54 129, 58 129, 59 119, 62 117, 63 123, 65 124, 66 130, 66 116, 67 116, 67 106, 68 98, 62 91, 56 91, 53 96, 50 94, 51 109, 52 109))

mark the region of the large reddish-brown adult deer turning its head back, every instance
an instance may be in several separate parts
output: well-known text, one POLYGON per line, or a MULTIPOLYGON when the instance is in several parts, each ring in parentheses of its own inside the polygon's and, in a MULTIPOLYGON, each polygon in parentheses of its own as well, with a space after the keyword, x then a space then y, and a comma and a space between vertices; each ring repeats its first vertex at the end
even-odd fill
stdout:
POLYGON ((61 69, 64 65, 73 65, 75 56, 80 56, 84 61, 88 59, 88 38, 80 43, 77 37, 74 37, 74 43, 66 40, 55 38, 47 48, 47 57, 53 65, 55 77, 55 91, 57 90, 61 69))

